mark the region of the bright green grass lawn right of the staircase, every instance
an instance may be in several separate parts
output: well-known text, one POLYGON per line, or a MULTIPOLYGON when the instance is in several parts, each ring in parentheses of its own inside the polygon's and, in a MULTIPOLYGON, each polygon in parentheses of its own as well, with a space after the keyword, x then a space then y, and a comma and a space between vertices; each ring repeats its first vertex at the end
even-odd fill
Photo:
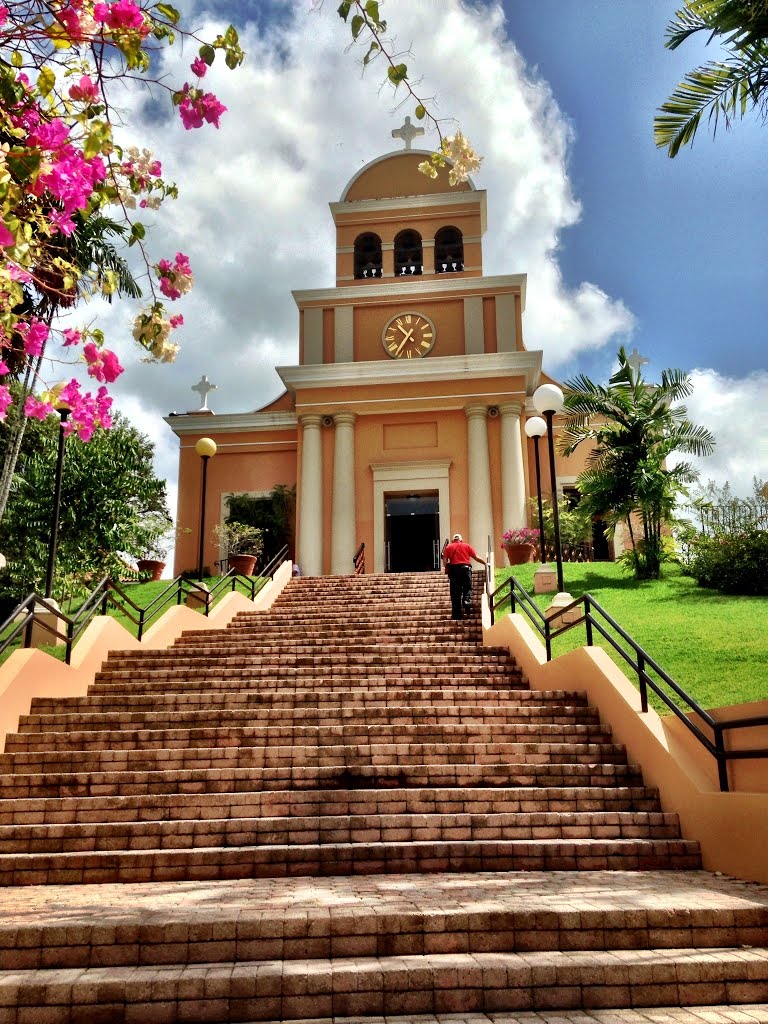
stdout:
MULTIPOLYGON (((531 593, 536 569, 535 563, 499 569, 497 586, 514 574, 531 593)), ((613 562, 566 563, 563 575, 573 598, 591 594, 702 708, 768 697, 768 598, 706 590, 673 564, 664 566, 662 580, 642 583, 613 562)), ((535 599, 546 608, 552 596, 535 599)), ((595 641, 632 679, 610 645, 598 634, 595 641)), ((585 642, 585 627, 578 626, 553 641, 553 656, 585 642)))

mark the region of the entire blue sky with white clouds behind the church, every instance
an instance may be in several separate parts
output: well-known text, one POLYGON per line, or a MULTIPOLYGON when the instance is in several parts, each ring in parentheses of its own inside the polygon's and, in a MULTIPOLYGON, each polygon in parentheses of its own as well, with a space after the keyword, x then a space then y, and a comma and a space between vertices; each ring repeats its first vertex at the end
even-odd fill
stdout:
MULTIPOLYGON (((190 0, 208 35, 232 18, 247 53, 243 69, 206 78, 228 108, 219 131, 184 132, 171 112, 148 117, 142 91, 126 97, 126 123, 141 133, 124 141, 148 145, 181 187, 152 229, 155 251, 187 253, 196 287, 170 367, 139 362, 123 306, 100 315, 124 338, 118 404, 156 442, 172 495, 177 441, 162 418, 197 408, 202 374, 218 385, 218 413, 276 397, 274 367, 298 356, 291 291, 334 284, 328 203, 395 147, 391 129, 413 114, 376 65, 362 74, 336 6, 190 0)), ((527 347, 561 380, 607 380, 620 344, 640 349, 651 379, 691 373, 691 418, 718 438, 702 476, 748 493, 755 474, 768 477, 768 127, 748 119, 714 141, 701 131, 675 160, 655 148, 656 106, 718 53, 665 48, 674 7, 385 0, 382 11, 445 131, 460 125, 483 156, 484 269, 527 274, 527 347)), ((183 75, 190 56, 171 51, 164 70, 183 75)))

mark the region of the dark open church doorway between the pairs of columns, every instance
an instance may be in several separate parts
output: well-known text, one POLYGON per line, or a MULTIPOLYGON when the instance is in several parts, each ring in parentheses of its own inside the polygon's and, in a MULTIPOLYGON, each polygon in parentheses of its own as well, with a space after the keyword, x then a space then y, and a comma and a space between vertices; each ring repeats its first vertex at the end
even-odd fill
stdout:
POLYGON ((431 572, 440 565, 437 493, 386 495, 388 572, 431 572))

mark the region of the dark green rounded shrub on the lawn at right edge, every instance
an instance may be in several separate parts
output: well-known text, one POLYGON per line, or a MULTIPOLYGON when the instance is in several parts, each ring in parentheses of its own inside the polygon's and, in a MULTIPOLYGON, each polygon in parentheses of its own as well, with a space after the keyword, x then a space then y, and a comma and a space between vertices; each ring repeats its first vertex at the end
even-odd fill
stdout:
POLYGON ((768 530, 699 538, 685 571, 726 594, 768 594, 768 530))

